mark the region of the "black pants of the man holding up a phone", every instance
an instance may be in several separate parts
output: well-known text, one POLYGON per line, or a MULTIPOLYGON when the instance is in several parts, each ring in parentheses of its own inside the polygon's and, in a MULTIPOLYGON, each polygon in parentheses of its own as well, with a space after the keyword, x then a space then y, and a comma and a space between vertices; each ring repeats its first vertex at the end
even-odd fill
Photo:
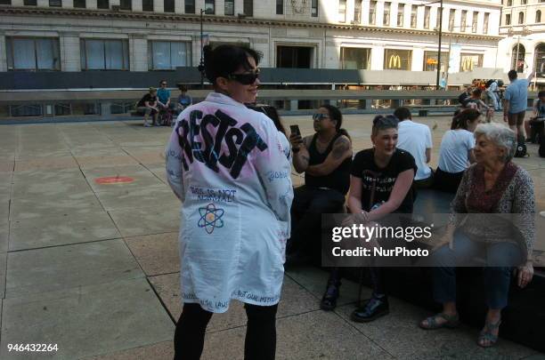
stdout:
POLYGON ((320 254, 321 214, 343 212, 345 196, 333 189, 302 186, 294 190, 288 251, 320 254))

